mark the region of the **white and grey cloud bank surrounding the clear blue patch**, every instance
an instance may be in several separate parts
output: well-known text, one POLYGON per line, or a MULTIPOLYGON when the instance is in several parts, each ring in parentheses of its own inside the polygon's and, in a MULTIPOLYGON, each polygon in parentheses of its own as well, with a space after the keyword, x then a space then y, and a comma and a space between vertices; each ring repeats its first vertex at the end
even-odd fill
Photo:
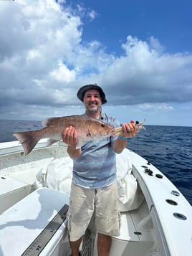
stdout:
POLYGON ((191 103, 191 54, 169 54, 155 37, 131 35, 124 54, 109 54, 99 40, 82 39, 82 16, 99 14, 57 2, 1 1, 0 118, 78 112, 77 89, 89 82, 102 85, 109 106, 136 106, 135 113, 191 103))

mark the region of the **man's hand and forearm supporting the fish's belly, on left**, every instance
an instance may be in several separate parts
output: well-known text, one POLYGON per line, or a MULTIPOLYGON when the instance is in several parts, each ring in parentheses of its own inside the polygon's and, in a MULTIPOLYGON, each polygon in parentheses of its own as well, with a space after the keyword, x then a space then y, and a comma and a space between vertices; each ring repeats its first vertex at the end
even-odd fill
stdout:
POLYGON ((77 148, 78 138, 75 127, 69 126, 62 133, 62 140, 68 145, 67 153, 71 158, 79 158, 82 154, 81 148, 77 148))

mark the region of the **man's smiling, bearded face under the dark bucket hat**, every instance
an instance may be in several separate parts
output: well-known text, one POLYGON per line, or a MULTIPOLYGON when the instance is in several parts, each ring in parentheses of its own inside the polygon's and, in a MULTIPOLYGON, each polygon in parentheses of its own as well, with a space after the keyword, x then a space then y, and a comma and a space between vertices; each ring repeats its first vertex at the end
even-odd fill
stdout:
POLYGON ((95 114, 100 112, 102 99, 98 90, 87 90, 85 92, 83 103, 87 113, 95 114))

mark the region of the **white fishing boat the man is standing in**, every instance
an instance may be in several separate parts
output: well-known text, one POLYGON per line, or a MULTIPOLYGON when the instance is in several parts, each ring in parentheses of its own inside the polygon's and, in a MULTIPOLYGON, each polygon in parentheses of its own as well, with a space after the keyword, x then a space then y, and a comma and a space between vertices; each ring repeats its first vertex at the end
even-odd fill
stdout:
MULTIPOLYGON (((67 147, 42 139, 24 156, 18 141, 4 142, 0 159, 0 255, 69 256, 67 147)), ((110 256, 191 255, 191 204, 162 172, 126 148, 117 155, 117 184, 121 227, 110 256)), ((97 256, 94 219, 80 252, 97 256)))

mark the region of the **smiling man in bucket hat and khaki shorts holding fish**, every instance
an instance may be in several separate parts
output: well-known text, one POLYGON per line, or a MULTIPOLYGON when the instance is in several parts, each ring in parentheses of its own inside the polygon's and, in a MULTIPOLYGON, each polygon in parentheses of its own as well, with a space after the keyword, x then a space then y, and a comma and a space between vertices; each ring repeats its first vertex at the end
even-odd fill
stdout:
MULTIPOLYGON (((100 86, 97 84, 82 86, 77 98, 85 105, 84 115, 101 119, 115 128, 120 127, 116 118, 108 117, 101 112, 101 106, 107 103, 107 100, 100 86)), ((98 256, 109 256, 111 236, 120 235, 115 153, 121 153, 126 147, 126 138, 137 134, 134 123, 124 123, 122 128, 122 136, 118 138, 89 141, 78 149, 76 149, 78 138, 75 128, 70 126, 63 132, 63 141, 68 145, 67 152, 74 162, 67 214, 72 256, 79 255, 82 236, 93 214, 98 232, 98 256)))

